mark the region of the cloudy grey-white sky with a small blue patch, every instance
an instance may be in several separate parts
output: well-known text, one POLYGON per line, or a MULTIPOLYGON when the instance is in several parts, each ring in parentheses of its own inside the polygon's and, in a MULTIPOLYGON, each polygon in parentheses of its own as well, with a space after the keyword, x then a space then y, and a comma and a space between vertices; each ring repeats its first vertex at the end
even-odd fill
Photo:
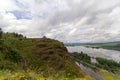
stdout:
POLYGON ((0 27, 62 42, 120 41, 120 0, 1 0, 0 27))

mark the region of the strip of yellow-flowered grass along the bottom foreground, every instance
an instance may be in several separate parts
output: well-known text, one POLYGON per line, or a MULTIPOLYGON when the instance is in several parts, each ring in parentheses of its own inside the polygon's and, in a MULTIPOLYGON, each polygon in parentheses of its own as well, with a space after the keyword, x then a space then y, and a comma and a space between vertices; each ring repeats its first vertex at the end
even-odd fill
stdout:
POLYGON ((35 73, 34 71, 19 71, 11 72, 9 70, 0 70, 0 80, 93 80, 90 76, 86 75, 83 78, 64 77, 64 74, 56 74, 45 78, 43 73, 35 73))

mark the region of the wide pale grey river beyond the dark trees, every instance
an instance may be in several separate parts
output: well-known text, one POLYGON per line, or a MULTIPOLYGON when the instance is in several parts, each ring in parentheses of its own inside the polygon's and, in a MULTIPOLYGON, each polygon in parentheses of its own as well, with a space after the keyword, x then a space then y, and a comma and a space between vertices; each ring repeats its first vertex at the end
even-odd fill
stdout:
POLYGON ((91 57, 102 57, 107 59, 112 59, 117 62, 120 62, 120 51, 107 50, 107 49, 95 49, 95 48, 86 48, 84 46, 71 46, 67 47, 69 52, 81 52, 88 54, 91 57))

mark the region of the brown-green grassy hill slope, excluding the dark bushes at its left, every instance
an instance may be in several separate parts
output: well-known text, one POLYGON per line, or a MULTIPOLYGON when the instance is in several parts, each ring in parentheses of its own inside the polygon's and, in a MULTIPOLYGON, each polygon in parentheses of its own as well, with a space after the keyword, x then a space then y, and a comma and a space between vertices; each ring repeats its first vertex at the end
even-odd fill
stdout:
MULTIPOLYGON (((86 76, 69 57, 63 43, 57 40, 26 39, 13 34, 4 34, 2 40, 5 46, 16 50, 22 57, 18 63, 6 63, 15 71, 30 69, 37 73, 43 72, 43 77, 55 74, 64 77, 86 76)), ((2 56, 1 59, 5 60, 2 56)))

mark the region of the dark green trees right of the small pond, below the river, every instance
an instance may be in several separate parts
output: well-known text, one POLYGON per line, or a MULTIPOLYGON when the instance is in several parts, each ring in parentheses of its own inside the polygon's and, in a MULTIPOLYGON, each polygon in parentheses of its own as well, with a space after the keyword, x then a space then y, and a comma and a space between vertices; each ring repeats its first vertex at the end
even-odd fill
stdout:
POLYGON ((97 67, 103 68, 105 70, 108 70, 110 72, 115 73, 120 68, 120 63, 117 63, 113 60, 108 60, 104 58, 96 58, 98 63, 96 64, 97 67))

